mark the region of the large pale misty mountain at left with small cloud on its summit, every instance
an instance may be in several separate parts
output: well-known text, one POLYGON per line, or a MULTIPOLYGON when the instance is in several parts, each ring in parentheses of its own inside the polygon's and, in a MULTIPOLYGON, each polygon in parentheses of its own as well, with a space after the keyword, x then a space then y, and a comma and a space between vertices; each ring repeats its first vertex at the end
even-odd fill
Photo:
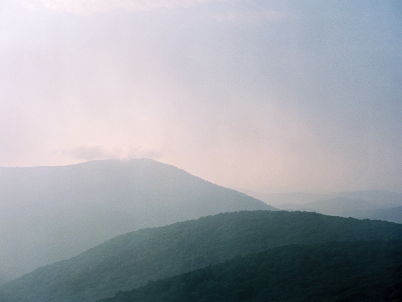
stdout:
POLYGON ((240 210, 275 209, 150 159, 0 168, 0 281, 130 231, 240 210))

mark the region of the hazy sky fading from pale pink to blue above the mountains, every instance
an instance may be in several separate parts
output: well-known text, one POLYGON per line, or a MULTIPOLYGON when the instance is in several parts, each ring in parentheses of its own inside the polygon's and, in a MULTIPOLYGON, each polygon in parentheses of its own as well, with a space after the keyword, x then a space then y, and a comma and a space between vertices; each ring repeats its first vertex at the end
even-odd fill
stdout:
POLYGON ((0 166, 402 192, 401 70, 400 1, 2 0, 0 166))

